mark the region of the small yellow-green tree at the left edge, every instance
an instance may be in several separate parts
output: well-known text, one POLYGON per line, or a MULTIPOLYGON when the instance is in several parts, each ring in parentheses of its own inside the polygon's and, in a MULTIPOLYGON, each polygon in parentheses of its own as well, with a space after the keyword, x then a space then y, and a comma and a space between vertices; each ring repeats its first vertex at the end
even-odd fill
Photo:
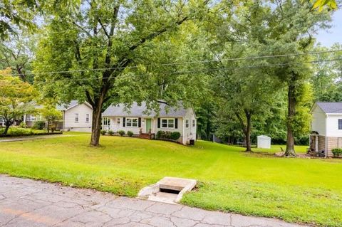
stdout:
POLYGON ((31 101, 36 96, 33 87, 11 76, 11 70, 0 70, 0 117, 4 119, 7 134, 15 121, 33 112, 31 101))

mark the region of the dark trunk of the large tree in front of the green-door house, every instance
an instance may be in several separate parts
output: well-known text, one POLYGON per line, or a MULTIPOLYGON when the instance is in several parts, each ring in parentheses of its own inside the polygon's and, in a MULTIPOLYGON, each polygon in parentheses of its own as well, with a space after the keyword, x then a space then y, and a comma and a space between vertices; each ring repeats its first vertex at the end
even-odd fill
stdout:
POLYGON ((97 147, 100 144, 100 131, 102 120, 102 107, 103 102, 95 103, 93 106, 93 122, 91 127, 90 145, 97 147))

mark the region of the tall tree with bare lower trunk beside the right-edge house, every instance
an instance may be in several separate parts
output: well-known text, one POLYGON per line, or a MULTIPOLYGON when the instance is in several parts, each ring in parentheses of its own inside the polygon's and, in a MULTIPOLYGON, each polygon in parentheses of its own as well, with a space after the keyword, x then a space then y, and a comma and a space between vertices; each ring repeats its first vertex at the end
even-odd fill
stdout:
MULTIPOLYGON (((306 53, 312 51, 315 42, 314 34, 318 28, 328 27, 331 13, 328 11, 311 12, 312 5, 302 1, 276 1, 269 8, 265 23, 270 28, 266 36, 265 54, 306 53)), ((267 31, 267 30, 266 30, 267 31)), ((274 67, 274 75, 282 80, 288 88, 287 139, 286 156, 296 156, 294 137, 296 127, 296 109, 299 108, 299 97, 303 87, 311 75, 312 60, 310 55, 269 58, 269 63, 279 65, 274 67)))

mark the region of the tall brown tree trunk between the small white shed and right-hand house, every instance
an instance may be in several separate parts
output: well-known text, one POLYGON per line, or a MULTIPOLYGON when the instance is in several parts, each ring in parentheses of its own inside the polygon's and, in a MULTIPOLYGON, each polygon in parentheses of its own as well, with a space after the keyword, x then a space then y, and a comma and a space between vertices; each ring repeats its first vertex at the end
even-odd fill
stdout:
POLYGON ((295 157, 294 151, 294 117, 296 115, 296 80, 293 77, 289 82, 288 90, 288 115, 287 115, 287 140, 284 156, 295 157))

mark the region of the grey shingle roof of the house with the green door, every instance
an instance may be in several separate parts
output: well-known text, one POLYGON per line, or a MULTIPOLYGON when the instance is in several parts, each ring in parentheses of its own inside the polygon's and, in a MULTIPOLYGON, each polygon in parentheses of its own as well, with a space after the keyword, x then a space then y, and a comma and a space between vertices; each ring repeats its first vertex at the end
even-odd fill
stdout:
MULTIPOLYGON (((164 103, 160 103, 160 112, 158 117, 185 117, 187 110, 180 103, 180 106, 168 107, 164 103)), ((126 110, 125 105, 110 105, 110 107, 103 112, 103 117, 155 117, 157 112, 154 110, 147 110, 146 103, 142 102, 138 105, 137 102, 133 102, 130 109, 126 110)))

